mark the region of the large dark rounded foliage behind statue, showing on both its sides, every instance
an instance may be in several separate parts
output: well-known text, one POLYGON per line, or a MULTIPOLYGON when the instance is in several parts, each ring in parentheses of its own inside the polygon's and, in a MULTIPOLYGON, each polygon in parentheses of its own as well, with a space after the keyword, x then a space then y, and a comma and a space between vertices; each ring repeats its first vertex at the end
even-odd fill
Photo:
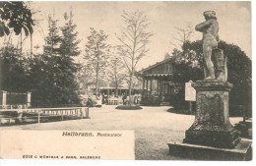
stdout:
MULTIPOLYGON (((239 105, 242 105, 247 111, 248 116, 251 116, 251 60, 237 45, 220 41, 219 48, 224 50, 224 55, 227 57, 227 82, 233 84, 233 88, 229 93, 229 114, 231 116, 241 115, 239 105)), ((173 61, 176 63, 176 69, 181 71, 174 79, 183 83, 189 80, 193 82, 203 80, 202 41, 187 41, 183 44, 182 49, 181 54, 173 58, 173 61)))

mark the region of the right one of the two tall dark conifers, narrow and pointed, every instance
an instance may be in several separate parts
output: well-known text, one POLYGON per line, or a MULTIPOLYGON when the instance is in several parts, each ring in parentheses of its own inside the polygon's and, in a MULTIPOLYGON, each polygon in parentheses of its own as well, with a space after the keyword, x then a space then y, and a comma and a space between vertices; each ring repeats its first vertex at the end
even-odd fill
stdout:
POLYGON ((61 28, 62 38, 60 44, 60 56, 58 58, 59 75, 57 84, 60 85, 60 102, 65 104, 78 104, 80 102, 78 96, 79 84, 77 83, 76 73, 78 72, 78 64, 74 62, 73 57, 79 56, 81 51, 77 39, 78 32, 75 31, 77 25, 73 23, 73 13, 64 14, 65 26, 61 28))

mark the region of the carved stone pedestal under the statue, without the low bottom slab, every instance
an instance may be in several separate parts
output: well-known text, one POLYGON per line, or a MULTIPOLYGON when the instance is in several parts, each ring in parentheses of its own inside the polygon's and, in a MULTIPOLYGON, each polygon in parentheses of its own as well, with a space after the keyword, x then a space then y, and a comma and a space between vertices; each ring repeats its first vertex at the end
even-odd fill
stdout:
POLYGON ((183 143, 234 148, 240 141, 228 118, 228 93, 231 83, 197 82, 196 117, 186 131, 183 143))

